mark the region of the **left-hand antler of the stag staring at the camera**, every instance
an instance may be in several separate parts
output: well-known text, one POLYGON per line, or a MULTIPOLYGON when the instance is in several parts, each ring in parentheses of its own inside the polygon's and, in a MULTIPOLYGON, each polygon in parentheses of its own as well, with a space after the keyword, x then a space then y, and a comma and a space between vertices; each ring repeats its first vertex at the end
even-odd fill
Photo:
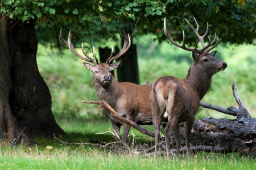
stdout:
POLYGON ((86 53, 84 52, 84 45, 82 43, 82 53, 84 53, 84 55, 87 57, 82 57, 77 51, 76 49, 73 47, 72 43, 71 43, 71 31, 69 31, 69 34, 68 34, 68 41, 65 41, 63 39, 63 36, 62 36, 62 28, 60 28, 60 35, 59 35, 59 40, 61 43, 67 45, 67 47, 77 56, 79 57, 80 59, 82 60, 85 60, 85 61, 88 61, 90 63, 93 63, 94 65, 97 65, 98 64, 98 59, 95 55, 95 52, 94 52, 94 48, 93 48, 93 55, 95 57, 96 60, 92 59, 92 57, 86 55, 86 53))

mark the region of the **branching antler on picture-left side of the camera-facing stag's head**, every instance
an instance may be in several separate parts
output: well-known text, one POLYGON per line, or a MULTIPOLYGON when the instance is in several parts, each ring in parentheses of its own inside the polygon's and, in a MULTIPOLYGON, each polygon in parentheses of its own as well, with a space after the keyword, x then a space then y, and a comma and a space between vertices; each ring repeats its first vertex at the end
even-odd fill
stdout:
MULTIPOLYGON (((82 59, 82 60, 85 60, 85 61, 88 61, 88 62, 90 62, 90 63, 96 63, 96 62, 94 62, 94 60, 92 59, 92 58, 90 58, 88 55, 85 55, 86 57, 88 57, 88 59, 87 58, 85 58, 85 57, 82 57, 77 51, 76 51, 76 49, 73 47, 73 45, 72 45, 72 42, 71 42, 71 31, 69 31, 69 34, 68 34, 68 41, 65 41, 64 39, 63 39, 63 36, 62 36, 62 28, 60 28, 60 35, 59 35, 59 40, 60 40, 60 42, 61 43, 63 43, 63 44, 65 44, 77 57, 79 57, 80 59, 82 59)), ((84 52, 84 51, 83 51, 84 52)), ((84 53, 85 54, 85 53, 84 53)))

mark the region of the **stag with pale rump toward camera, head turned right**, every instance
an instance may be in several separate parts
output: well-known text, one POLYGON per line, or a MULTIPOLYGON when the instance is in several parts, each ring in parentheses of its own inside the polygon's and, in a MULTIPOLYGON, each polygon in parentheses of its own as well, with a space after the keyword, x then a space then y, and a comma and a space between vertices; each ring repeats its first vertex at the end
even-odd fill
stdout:
MULTIPOLYGON (((196 19, 194 18, 195 22, 196 19)), ((186 19, 187 21, 187 19, 186 19)), ((170 135, 171 131, 175 132, 177 157, 179 157, 180 147, 180 130, 179 123, 185 122, 185 141, 187 143, 187 156, 190 151, 190 136, 191 129, 194 122, 196 111, 199 109, 200 100, 208 92, 212 82, 212 76, 219 71, 224 70, 228 65, 220 60, 214 58, 217 51, 210 52, 211 49, 216 47, 218 43, 215 38, 212 42, 205 45, 204 38, 208 34, 207 31, 203 36, 198 33, 199 26, 196 22, 197 28, 187 21, 189 26, 195 32, 202 45, 202 49, 197 49, 197 42, 195 48, 185 47, 185 35, 183 31, 183 44, 177 44, 172 40, 166 29, 166 19, 164 18, 164 33, 170 42, 179 48, 187 51, 192 51, 193 62, 188 70, 188 75, 183 80, 179 80, 173 76, 164 76, 158 78, 152 84, 150 93, 150 102, 152 110, 152 119, 155 129, 155 155, 158 149, 159 136, 160 136, 160 122, 167 121, 168 123, 164 128, 164 138, 167 146, 167 157, 170 157, 170 135)))

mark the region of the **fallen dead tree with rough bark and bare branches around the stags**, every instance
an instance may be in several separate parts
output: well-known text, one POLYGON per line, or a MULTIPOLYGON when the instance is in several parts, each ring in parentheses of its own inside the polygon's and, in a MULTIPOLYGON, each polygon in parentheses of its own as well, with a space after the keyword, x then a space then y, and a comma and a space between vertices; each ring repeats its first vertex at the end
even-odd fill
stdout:
MULTIPOLYGON (((234 115, 236 119, 215 119, 215 118, 203 118, 195 121, 192 128, 191 135, 191 150, 192 151, 205 151, 205 152, 219 152, 226 154, 228 152, 239 152, 241 155, 256 156, 255 143, 256 143, 256 119, 251 118, 250 114, 243 105, 242 100, 237 93, 236 85, 232 85, 234 97, 238 103, 239 108, 230 106, 227 109, 222 107, 210 105, 208 103, 201 102, 201 106, 220 111, 225 114, 234 115)), ((85 102, 85 101, 82 101, 85 102)), ((142 134, 154 137, 154 132, 148 131, 137 123, 129 121, 115 112, 107 102, 85 102, 85 103, 97 103, 100 107, 108 109, 113 117, 117 118, 130 126, 133 126, 142 134)), ((185 124, 181 123, 180 127, 181 146, 185 146, 185 124)), ((175 146, 175 138, 173 146, 175 146)), ((162 140, 164 138, 162 137, 162 140)), ((164 147, 163 147, 164 148, 164 147)), ((147 150, 148 152, 151 150, 147 150)), ((176 152, 176 149, 171 152, 176 152)), ((186 151, 186 147, 180 148, 180 152, 186 151)), ((164 154, 165 152, 159 152, 164 154)), ((150 155, 150 154, 148 154, 150 155)))

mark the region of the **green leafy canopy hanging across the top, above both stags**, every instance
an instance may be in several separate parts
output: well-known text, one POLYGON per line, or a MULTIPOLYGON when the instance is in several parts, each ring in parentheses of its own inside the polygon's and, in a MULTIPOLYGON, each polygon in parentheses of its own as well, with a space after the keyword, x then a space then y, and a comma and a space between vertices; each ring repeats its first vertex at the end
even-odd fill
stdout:
MULTIPOLYGON (((162 41, 166 40, 164 17, 174 39, 182 40, 182 30, 185 30, 188 44, 195 43, 196 37, 184 18, 195 26, 193 17, 199 22, 200 34, 204 34, 208 22, 208 35, 212 38, 216 32, 220 42, 252 44, 256 38, 254 0, 3 0, 0 5, 3 16, 24 23, 36 20, 39 42, 51 42, 51 45, 59 45, 60 27, 72 30, 72 35, 76 35, 74 43, 83 40, 105 43, 115 40, 121 27, 130 33, 130 23, 137 26, 135 36, 152 33, 162 41)), ((66 34, 64 31, 64 37, 66 34)))

